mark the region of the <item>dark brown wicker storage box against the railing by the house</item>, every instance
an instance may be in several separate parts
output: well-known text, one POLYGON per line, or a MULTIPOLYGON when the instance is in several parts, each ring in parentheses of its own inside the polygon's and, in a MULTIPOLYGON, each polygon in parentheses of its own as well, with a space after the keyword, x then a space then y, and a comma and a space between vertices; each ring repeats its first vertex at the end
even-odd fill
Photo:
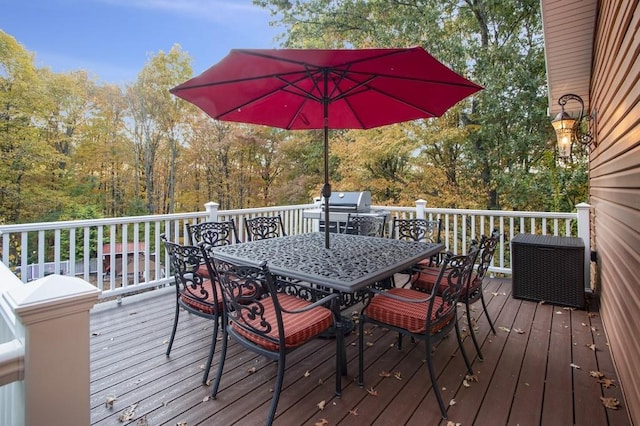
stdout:
POLYGON ((581 238, 518 234, 511 250, 513 297, 584 308, 581 238))

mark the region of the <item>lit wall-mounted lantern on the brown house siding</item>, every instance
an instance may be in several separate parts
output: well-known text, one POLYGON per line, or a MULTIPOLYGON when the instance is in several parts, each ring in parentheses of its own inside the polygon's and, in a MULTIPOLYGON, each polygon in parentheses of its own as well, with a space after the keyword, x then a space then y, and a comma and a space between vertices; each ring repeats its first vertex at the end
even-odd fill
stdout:
POLYGON ((553 119, 551 125, 556 131, 556 138, 558 140, 558 155, 561 158, 568 158, 571 156, 571 147, 574 142, 579 142, 582 145, 586 145, 591 148, 593 144, 595 146, 595 140, 590 131, 586 133, 582 131, 582 120, 590 120, 591 116, 584 115, 584 101, 578 95, 571 93, 560 96, 558 99, 560 105, 560 112, 553 119), (568 101, 574 100, 580 103, 580 116, 575 119, 571 117, 564 110, 564 106, 568 101))

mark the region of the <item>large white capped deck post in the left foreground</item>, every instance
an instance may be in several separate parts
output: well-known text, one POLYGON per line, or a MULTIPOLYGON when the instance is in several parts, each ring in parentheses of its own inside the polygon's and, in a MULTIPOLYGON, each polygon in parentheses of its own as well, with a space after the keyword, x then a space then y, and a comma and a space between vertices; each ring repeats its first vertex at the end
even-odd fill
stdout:
POLYGON ((21 383, 27 426, 91 423, 89 310, 99 294, 80 278, 49 275, 4 295, 25 348, 21 383))

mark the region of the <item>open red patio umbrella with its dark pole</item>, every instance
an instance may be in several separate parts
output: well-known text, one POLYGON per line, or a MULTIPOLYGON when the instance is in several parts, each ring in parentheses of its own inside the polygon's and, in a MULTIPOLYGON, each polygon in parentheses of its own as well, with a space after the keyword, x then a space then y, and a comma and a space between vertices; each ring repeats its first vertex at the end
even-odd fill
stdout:
POLYGON ((329 248, 329 129, 439 117, 481 89, 422 47, 413 47, 233 49, 170 92, 217 120, 324 129, 322 196, 329 248))

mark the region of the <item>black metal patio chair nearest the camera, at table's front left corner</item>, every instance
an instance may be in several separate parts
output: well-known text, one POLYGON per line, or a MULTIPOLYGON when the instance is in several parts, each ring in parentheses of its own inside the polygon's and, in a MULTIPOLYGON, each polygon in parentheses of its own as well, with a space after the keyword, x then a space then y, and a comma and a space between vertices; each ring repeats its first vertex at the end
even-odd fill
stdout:
MULTIPOLYGON (((327 306, 339 298, 318 288, 276 279, 266 263, 260 267, 211 259, 211 273, 222 288, 224 324, 221 358, 213 385, 215 398, 224 369, 228 336, 245 348, 277 361, 278 372, 266 424, 271 425, 284 379, 287 354, 327 331, 337 320, 327 306)), ((342 348, 336 339, 336 393, 341 392, 342 348)))

